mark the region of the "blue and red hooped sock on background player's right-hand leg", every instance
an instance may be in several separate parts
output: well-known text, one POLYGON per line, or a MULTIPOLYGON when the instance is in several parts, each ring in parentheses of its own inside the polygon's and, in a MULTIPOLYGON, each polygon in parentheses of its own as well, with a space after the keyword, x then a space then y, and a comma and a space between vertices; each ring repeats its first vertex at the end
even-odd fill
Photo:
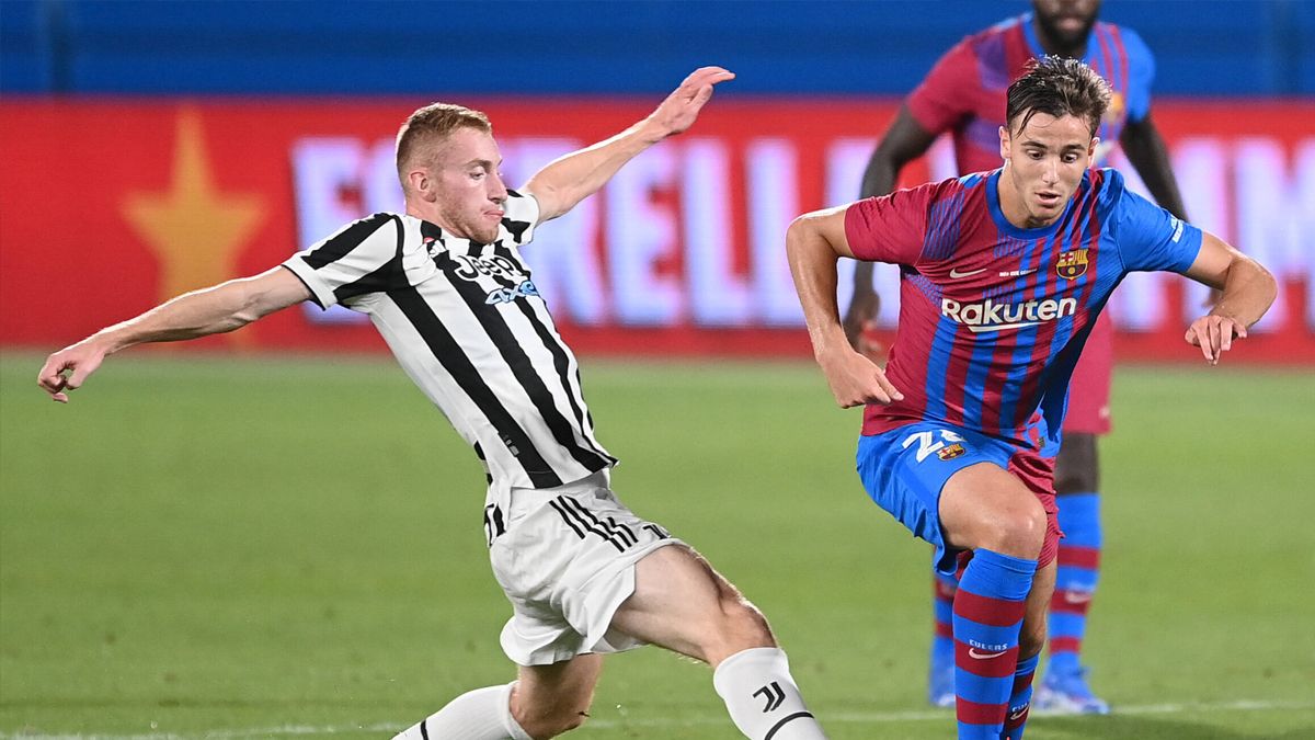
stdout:
POLYGON ((1072 673, 1081 668, 1086 616, 1101 577, 1101 496, 1057 496, 1060 540, 1055 596, 1049 610, 1051 662, 1047 673, 1072 673))

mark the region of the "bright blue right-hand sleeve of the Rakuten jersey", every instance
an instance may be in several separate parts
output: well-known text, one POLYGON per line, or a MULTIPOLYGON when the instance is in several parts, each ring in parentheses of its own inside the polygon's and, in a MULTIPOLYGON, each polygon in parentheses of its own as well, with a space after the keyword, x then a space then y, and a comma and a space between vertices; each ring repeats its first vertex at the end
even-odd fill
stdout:
POLYGON ((1201 251, 1201 229, 1180 221, 1155 203, 1123 187, 1123 176, 1107 170, 1116 187, 1114 241, 1128 271, 1185 273, 1201 251))

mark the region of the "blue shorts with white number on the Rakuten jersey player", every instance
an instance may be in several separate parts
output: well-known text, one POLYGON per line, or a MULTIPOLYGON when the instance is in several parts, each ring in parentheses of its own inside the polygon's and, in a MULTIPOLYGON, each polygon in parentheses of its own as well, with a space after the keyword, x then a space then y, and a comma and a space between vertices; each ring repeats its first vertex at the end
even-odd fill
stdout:
MULTIPOLYGON (((940 528, 940 490, 951 475, 978 462, 990 462, 1015 473, 1011 463, 1020 452, 1002 440, 961 427, 918 421, 859 437, 859 478, 877 506, 890 512, 915 537, 935 545, 936 570, 953 575, 960 550, 945 544, 945 533, 940 528)), ((1053 510, 1053 489, 1040 491, 1030 487, 1047 504, 1048 512, 1053 510)), ((1057 542, 1057 527, 1055 535, 1057 542)))

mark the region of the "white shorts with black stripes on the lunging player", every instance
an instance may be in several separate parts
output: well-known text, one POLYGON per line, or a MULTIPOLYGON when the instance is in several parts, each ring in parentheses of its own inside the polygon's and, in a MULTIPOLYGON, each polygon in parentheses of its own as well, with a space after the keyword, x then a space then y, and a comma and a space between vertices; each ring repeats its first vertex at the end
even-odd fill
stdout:
POLYGON ((489 561, 513 610, 502 650, 517 665, 643 645, 610 629, 611 618, 635 590, 635 564, 680 540, 635 516, 608 483, 602 470, 556 489, 490 491, 489 561))

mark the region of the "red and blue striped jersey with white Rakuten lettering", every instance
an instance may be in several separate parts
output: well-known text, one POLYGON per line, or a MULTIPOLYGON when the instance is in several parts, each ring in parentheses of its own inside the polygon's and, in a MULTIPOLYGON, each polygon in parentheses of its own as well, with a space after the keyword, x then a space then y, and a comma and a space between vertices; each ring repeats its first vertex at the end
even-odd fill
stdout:
POLYGON ((1001 170, 849 205, 859 259, 901 266, 886 377, 905 399, 869 404, 863 433, 938 420, 1043 450, 1059 444, 1069 375, 1095 317, 1131 271, 1191 266, 1201 230, 1088 170, 1053 224, 999 208, 1001 170))

